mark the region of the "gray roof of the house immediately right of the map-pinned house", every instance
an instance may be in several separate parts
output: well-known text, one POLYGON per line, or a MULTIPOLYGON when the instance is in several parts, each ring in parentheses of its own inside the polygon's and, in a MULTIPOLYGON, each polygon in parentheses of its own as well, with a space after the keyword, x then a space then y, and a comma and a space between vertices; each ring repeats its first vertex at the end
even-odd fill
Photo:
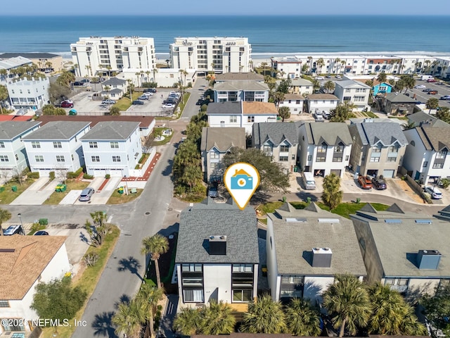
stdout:
POLYGON ((269 213, 268 217, 274 223, 278 275, 366 275, 358 239, 352 221, 347 218, 317 206, 303 210, 278 209, 276 214, 269 213), (286 218, 300 218, 304 222, 286 222, 286 218), (324 221, 326 219, 329 221, 324 221), (311 266, 311 249, 315 247, 331 249, 330 268, 311 266))

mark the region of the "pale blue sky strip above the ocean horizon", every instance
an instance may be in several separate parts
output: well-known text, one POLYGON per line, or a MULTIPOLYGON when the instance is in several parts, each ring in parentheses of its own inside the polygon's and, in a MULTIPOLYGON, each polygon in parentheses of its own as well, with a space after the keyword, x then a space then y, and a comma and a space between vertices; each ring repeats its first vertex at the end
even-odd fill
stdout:
MULTIPOLYGON (((449 0, 22 0, 2 1, 0 15, 450 15, 449 0)), ((424 23, 422 23, 424 24, 424 23)))

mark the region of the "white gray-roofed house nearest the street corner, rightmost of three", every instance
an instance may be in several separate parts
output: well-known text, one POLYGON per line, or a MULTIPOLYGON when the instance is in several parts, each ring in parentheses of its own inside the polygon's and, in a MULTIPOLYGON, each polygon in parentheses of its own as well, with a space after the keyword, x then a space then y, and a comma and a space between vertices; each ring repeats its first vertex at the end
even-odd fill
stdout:
POLYGON ((139 122, 98 122, 81 142, 86 173, 94 177, 131 176, 142 156, 139 122))

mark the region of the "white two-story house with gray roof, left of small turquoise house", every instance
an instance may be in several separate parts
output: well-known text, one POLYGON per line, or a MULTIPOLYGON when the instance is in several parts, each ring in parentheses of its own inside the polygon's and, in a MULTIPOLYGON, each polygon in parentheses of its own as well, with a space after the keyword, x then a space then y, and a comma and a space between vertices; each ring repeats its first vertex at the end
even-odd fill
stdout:
POLYGON ((355 80, 342 80, 335 83, 335 96, 338 96, 340 103, 353 104, 356 111, 370 110, 368 106, 370 86, 355 80))

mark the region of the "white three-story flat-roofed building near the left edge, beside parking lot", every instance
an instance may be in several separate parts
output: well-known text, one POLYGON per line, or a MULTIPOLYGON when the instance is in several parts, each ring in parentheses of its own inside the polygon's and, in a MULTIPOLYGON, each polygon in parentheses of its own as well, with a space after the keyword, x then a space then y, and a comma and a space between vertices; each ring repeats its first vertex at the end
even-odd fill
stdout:
POLYGON ((10 80, 6 87, 11 106, 17 110, 42 108, 49 103, 49 85, 49 77, 10 80))

